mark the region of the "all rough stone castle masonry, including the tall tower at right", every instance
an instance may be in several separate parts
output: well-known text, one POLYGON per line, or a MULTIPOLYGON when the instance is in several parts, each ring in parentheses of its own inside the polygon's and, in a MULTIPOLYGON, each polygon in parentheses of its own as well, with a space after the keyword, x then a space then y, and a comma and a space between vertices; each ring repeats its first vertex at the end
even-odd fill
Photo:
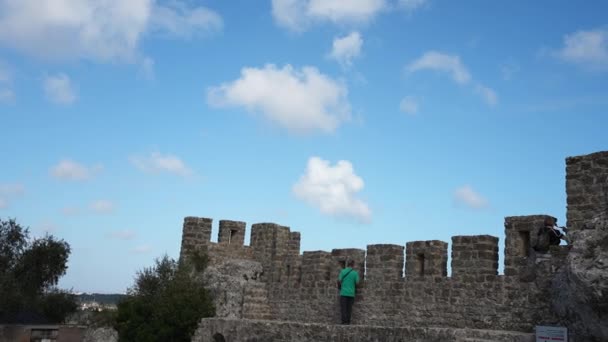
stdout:
POLYGON ((181 257, 199 250, 201 278, 218 317, 193 341, 533 341, 536 325, 566 326, 570 341, 608 341, 608 152, 566 159, 571 246, 532 248, 548 215, 505 218, 504 275, 498 238, 454 236, 362 249, 305 251, 300 233, 274 223, 251 227, 184 219, 181 257), (339 322, 337 274, 354 260, 363 276, 353 324, 339 322), (365 270, 365 272, 361 272, 365 270))

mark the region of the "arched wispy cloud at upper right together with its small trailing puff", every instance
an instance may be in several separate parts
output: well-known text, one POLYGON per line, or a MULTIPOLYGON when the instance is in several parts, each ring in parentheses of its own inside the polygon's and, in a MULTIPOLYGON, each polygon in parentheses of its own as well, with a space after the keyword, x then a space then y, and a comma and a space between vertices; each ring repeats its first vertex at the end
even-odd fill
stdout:
POLYGON ((460 85, 473 84, 473 91, 489 105, 495 105, 498 102, 498 95, 493 89, 479 82, 472 82, 473 77, 467 67, 460 61, 459 56, 427 51, 420 58, 408 64, 405 70, 408 73, 424 70, 446 73, 460 85))

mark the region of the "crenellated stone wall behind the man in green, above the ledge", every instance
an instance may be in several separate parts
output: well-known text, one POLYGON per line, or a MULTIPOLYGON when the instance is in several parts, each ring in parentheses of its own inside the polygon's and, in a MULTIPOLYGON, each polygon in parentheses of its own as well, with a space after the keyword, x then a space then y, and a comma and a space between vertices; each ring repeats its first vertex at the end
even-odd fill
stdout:
POLYGON ((218 242, 213 243, 212 220, 187 217, 182 255, 201 250, 209 254, 211 265, 227 260, 261 265, 261 276, 237 290, 244 293, 244 308, 238 310, 244 318, 338 322, 336 279, 353 260, 362 279, 353 314, 356 324, 529 332, 538 323, 557 322, 546 300, 548 279, 560 265, 556 260, 567 255, 561 247, 542 257, 532 249, 545 217, 505 219, 505 275, 497 271, 498 238, 489 235, 452 238, 450 277, 449 246, 444 241, 300 254, 300 233, 275 223, 252 225, 246 246, 244 222, 220 221, 218 242))

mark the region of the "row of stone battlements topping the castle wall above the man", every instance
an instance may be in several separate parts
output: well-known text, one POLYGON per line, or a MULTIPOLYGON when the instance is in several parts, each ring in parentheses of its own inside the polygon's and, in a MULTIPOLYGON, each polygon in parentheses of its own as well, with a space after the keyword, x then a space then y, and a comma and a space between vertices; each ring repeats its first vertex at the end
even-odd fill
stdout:
MULTIPOLYGON (((533 272, 538 230, 548 215, 505 218, 505 276, 533 272)), ((365 250, 356 248, 328 251, 305 251, 300 254, 299 232, 276 223, 251 225, 251 243, 244 244, 246 223, 219 221, 217 243, 211 242, 211 218, 186 217, 183 225, 182 251, 204 251, 211 262, 225 259, 258 261, 263 266, 262 280, 283 283, 286 287, 320 286, 333 282, 347 261, 365 278, 366 286, 386 282, 434 281, 448 277, 449 244, 439 240, 412 241, 405 245, 374 244, 365 250)), ((475 281, 477 276, 498 275, 498 238, 490 235, 454 236, 451 243, 451 277, 475 281)), ((488 278, 490 279, 490 278, 488 278)))

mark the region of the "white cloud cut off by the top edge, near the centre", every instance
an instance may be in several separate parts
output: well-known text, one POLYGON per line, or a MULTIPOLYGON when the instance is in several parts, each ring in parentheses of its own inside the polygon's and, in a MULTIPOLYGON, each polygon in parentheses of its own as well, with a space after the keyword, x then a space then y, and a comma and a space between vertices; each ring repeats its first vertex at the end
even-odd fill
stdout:
POLYGON ((317 22, 367 23, 387 6, 385 0, 272 0, 272 15, 280 26, 303 31, 317 22))

